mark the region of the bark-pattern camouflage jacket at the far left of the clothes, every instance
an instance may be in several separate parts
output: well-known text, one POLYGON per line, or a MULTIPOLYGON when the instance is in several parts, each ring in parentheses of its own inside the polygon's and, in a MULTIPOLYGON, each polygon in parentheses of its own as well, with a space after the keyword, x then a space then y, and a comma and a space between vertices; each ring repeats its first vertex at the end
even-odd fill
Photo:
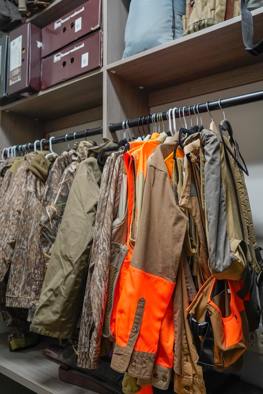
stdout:
MULTIPOLYGON (((35 258, 36 228, 45 182, 28 169, 37 154, 22 161, 5 194, 4 222, 1 226, 1 279, 9 268, 6 307, 27 308, 30 272, 35 258), (3 253, 6 251, 6 253, 3 253)), ((41 155, 45 162, 45 156, 41 155)), ((47 165, 47 162, 46 162, 47 165)), ((9 173, 6 176, 9 176, 9 173)), ((3 192, 3 185, 1 192, 3 192)), ((3 219, 3 217, 1 217, 3 219)))

